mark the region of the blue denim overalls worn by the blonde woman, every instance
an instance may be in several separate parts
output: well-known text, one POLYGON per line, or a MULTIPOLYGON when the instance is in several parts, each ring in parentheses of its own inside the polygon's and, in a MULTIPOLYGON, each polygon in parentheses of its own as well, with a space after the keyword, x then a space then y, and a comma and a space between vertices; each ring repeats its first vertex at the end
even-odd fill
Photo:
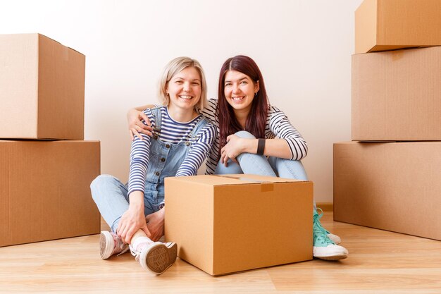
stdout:
MULTIPOLYGON (((154 135, 150 140, 149 168, 144 188, 144 215, 157 212, 164 201, 164 178, 175 176, 182 161, 197 140, 197 133, 204 128, 208 120, 204 117, 194 126, 188 140, 177 144, 163 142, 161 133, 161 108, 151 109, 155 118, 154 135)), ((97 204, 101 216, 115 232, 121 216, 129 209, 128 187, 110 175, 98 176, 90 185, 92 198, 97 204)))

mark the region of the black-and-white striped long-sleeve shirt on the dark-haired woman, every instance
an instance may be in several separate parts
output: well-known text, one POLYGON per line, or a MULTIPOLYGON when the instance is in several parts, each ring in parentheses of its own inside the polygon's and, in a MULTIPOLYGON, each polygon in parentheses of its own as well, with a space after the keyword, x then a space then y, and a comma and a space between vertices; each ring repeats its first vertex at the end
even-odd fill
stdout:
MULTIPOLYGON (((215 125, 218 134, 219 131, 219 120, 216 117, 216 106, 218 104, 218 99, 209 99, 208 105, 203 109, 202 114, 209 118, 215 125)), ((275 106, 268 107, 268 116, 266 118, 265 125, 265 138, 273 139, 278 137, 280 139, 286 140, 288 146, 291 150, 291 160, 300 160, 306 157, 308 152, 308 147, 306 141, 300 135, 300 133, 292 126, 290 120, 287 118, 283 111, 280 111, 275 106)), ((213 174, 216 170, 216 165, 218 164, 220 140, 216 137, 213 142, 213 147, 211 148, 209 157, 206 159, 206 173, 213 174)))

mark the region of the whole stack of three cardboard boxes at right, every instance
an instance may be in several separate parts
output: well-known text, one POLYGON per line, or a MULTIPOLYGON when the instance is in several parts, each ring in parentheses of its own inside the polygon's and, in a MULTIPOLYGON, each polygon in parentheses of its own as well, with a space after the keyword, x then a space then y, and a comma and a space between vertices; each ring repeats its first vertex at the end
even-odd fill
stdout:
POLYGON ((357 9, 356 142, 334 145, 335 221, 441 240, 440 16, 438 0, 357 9))

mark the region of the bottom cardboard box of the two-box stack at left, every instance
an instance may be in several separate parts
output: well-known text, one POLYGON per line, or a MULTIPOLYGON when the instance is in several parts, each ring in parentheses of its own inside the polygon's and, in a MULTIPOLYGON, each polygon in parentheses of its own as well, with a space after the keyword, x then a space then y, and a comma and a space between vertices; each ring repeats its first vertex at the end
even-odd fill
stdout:
POLYGON ((0 140, 0 246, 96 234, 99 142, 0 140))

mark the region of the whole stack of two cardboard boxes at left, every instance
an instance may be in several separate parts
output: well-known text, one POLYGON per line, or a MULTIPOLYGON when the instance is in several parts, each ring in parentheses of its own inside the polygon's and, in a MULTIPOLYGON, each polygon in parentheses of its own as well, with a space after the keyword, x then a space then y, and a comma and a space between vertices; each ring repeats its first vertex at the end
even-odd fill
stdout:
POLYGON ((0 246, 99 233, 84 93, 83 54, 44 35, 0 35, 0 246))

